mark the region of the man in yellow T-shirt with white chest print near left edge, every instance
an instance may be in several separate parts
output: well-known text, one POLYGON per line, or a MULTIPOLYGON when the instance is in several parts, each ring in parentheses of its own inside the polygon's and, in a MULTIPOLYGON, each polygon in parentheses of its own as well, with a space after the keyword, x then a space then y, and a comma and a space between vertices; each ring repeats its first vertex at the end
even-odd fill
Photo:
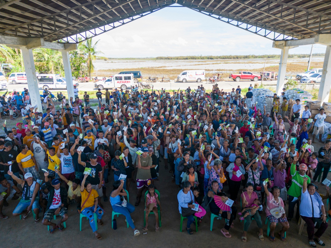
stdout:
POLYGON ((23 175, 25 175, 25 173, 31 173, 34 180, 40 179, 37 162, 33 153, 29 150, 27 145, 21 145, 20 150, 21 152, 17 155, 16 162, 23 175))

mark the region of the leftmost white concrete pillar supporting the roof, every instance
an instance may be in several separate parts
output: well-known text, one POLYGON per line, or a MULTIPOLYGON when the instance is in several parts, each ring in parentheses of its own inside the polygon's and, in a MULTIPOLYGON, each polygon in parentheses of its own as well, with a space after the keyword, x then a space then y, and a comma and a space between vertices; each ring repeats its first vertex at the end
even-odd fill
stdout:
POLYGON ((24 68, 26 73, 26 79, 28 81, 28 89, 30 92, 31 105, 34 107, 38 105, 38 112, 43 112, 40 93, 38 87, 38 79, 36 76, 36 67, 34 65, 32 49, 26 47, 20 48, 22 51, 22 57, 24 62, 24 68))

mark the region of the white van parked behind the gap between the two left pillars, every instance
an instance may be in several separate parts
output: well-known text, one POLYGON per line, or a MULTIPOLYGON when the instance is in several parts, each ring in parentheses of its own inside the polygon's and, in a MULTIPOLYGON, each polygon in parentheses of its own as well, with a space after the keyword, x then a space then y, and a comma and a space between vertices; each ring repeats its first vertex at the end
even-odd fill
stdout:
MULTIPOLYGON (((38 87, 45 89, 66 89, 66 78, 59 74, 39 74, 37 75, 38 87)), ((78 87, 77 81, 72 81, 73 86, 78 87)))

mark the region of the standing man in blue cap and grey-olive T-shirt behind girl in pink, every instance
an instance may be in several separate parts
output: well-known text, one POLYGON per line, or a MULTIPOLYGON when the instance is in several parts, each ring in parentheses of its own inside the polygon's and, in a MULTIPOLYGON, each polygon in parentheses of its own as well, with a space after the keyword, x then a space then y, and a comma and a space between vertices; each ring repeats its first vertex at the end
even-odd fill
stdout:
POLYGON ((142 147, 141 156, 137 156, 137 197, 134 203, 135 206, 138 206, 140 203, 140 198, 144 187, 148 187, 151 184, 151 174, 150 168, 152 166, 152 158, 148 156, 148 148, 142 147))

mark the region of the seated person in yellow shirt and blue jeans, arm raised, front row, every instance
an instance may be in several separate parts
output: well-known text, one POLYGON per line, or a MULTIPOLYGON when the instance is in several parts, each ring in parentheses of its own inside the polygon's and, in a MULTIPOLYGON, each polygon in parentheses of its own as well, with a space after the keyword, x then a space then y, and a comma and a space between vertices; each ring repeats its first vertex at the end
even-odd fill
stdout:
POLYGON ((103 222, 101 221, 101 218, 103 216, 103 209, 98 205, 98 199, 100 198, 99 194, 95 189, 92 188, 90 182, 86 181, 87 177, 89 177, 89 175, 85 174, 83 181, 80 184, 81 213, 89 219, 90 226, 95 235, 95 238, 100 240, 101 235, 96 230, 94 214, 92 213, 97 215, 97 222, 100 226, 102 226, 103 222))

